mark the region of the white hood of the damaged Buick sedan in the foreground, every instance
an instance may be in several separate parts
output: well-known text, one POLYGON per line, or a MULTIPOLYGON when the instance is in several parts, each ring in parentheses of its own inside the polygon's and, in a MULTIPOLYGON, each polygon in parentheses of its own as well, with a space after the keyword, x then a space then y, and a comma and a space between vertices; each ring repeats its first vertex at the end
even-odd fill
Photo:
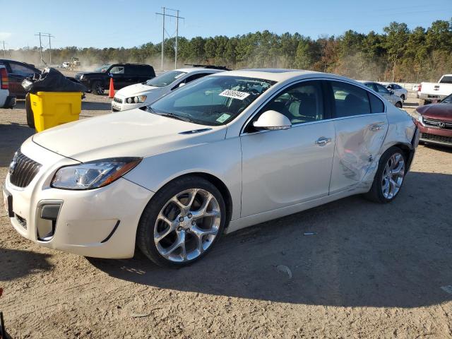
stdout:
POLYGON ((146 157, 220 141, 226 126, 203 126, 131 109, 74 121, 35 134, 32 141, 86 162, 107 157, 146 157))

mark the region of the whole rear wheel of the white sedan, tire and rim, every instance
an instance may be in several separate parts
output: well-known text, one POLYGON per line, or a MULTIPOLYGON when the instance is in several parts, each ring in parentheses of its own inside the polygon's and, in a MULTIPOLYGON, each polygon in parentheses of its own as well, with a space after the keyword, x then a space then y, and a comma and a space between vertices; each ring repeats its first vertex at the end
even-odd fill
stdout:
POLYGON ((390 203, 402 187, 406 172, 406 157, 400 148, 386 150, 379 162, 371 189, 364 196, 376 203, 390 203))

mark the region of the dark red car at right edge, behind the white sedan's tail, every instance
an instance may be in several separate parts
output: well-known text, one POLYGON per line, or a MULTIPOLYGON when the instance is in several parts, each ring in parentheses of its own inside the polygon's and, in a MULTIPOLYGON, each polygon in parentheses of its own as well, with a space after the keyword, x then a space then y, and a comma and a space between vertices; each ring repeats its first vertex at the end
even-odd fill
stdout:
POLYGON ((414 113, 420 141, 452 146, 452 94, 439 104, 417 107, 414 113))

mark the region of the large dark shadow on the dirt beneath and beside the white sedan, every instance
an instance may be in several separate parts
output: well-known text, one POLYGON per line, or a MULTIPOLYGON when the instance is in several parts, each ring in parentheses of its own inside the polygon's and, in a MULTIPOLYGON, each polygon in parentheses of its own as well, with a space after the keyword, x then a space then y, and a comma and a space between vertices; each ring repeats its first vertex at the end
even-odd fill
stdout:
POLYGON ((452 176, 410 172, 396 201, 360 196, 223 237, 177 270, 90 258, 121 280, 170 290, 343 307, 421 307, 452 300, 452 176), (435 191, 443 194, 437 196, 435 191))

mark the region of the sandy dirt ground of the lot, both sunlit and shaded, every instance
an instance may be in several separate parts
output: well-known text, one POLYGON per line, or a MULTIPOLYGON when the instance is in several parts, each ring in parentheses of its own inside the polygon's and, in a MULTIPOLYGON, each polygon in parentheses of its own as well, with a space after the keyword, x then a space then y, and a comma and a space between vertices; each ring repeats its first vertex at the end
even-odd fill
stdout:
MULTIPOLYGON (((1 182, 32 133, 23 102, 0 109, 1 182)), ((0 310, 12 338, 452 338, 451 210, 452 150, 424 145, 393 203, 265 222, 179 270, 42 248, 1 209, 0 310)))

